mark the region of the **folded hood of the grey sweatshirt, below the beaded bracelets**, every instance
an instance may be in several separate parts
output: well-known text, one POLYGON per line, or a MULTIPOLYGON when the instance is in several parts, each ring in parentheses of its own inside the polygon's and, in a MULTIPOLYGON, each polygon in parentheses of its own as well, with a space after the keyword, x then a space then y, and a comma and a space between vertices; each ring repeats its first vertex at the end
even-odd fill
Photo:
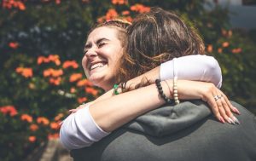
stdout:
POLYGON ((126 124, 125 128, 160 137, 186 129, 211 114, 204 101, 183 101, 178 105, 165 105, 148 112, 126 124))

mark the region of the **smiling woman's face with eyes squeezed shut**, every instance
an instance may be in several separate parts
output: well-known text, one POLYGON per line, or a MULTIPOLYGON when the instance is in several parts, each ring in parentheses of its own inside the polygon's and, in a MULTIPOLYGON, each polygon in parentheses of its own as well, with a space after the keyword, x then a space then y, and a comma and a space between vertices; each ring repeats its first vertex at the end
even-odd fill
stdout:
POLYGON ((118 32, 114 27, 98 27, 90 32, 84 47, 82 66, 86 77, 105 90, 113 87, 118 62, 123 55, 118 32))

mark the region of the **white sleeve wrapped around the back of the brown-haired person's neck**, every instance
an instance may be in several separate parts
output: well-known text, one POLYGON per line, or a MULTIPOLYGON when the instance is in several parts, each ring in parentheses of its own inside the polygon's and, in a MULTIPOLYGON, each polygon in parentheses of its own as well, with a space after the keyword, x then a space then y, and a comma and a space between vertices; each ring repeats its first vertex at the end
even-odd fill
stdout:
POLYGON ((211 82, 218 89, 222 85, 222 73, 218 61, 207 55, 183 56, 160 65, 161 80, 172 79, 174 76, 178 79, 211 82))

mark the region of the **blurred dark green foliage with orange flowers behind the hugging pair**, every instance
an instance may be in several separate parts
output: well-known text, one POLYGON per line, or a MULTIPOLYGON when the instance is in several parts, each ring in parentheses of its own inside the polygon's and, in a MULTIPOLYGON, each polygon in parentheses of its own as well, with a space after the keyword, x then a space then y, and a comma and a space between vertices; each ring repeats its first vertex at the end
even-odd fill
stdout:
POLYGON ((102 94, 80 65, 90 26, 117 17, 131 21, 151 6, 175 11, 199 30, 207 54, 222 67, 224 93, 256 113, 256 30, 232 29, 228 9, 201 0, 2 0, 1 160, 25 159, 58 137, 67 109, 102 94))

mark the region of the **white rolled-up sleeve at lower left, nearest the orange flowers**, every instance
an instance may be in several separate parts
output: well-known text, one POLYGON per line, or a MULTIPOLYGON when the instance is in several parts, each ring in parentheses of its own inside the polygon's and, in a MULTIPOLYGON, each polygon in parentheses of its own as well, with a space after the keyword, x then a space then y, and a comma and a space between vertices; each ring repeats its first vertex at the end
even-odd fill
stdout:
POLYGON ((90 115, 89 106, 69 115, 61 125, 60 141, 67 149, 90 147, 109 133, 103 131, 90 115))

